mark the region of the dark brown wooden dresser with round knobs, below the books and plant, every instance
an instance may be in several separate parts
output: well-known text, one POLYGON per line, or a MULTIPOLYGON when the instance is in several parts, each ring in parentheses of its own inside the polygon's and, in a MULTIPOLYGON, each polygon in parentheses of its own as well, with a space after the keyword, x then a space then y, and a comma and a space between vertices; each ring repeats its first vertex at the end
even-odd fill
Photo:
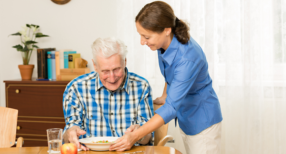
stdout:
POLYGON ((64 128, 63 92, 69 81, 4 81, 6 107, 18 110, 17 133, 23 147, 47 146, 47 129, 64 128))

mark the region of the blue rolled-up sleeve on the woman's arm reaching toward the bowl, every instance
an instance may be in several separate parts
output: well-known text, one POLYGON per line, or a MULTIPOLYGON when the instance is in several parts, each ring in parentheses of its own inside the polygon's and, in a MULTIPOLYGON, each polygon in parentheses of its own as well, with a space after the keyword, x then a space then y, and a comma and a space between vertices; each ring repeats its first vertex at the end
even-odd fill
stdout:
POLYGON ((190 60, 184 60, 177 64, 166 102, 155 111, 156 114, 164 119, 165 124, 176 117, 176 113, 184 102, 184 98, 196 80, 198 73, 198 65, 190 60))

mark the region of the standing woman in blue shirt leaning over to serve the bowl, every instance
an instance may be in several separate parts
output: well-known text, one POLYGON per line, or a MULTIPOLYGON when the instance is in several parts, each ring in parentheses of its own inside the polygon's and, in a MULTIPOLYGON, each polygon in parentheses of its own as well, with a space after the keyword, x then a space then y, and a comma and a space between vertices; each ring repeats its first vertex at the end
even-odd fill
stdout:
POLYGON ((143 126, 128 128, 110 150, 128 150, 148 133, 175 119, 187 153, 220 153, 221 108, 212 88, 206 56, 190 37, 188 25, 162 1, 146 4, 135 23, 141 44, 158 50, 166 83, 163 95, 154 103, 164 106, 143 126))

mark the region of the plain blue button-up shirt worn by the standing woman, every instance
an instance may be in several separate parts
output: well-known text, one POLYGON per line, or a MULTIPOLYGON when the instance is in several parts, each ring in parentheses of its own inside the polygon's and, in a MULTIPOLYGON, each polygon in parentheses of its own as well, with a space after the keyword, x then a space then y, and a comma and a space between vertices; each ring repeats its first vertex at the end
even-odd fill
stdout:
POLYGON ((195 135, 223 120, 206 56, 192 37, 180 44, 174 36, 166 51, 158 49, 158 60, 167 83, 167 98, 155 113, 165 123, 177 117, 182 131, 195 135))

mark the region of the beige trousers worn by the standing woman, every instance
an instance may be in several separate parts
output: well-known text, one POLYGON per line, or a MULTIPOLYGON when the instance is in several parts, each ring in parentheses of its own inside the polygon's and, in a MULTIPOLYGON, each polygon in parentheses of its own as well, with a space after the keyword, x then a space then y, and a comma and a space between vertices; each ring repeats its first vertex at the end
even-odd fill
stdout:
POLYGON ((186 135, 180 129, 187 154, 220 154, 221 122, 204 129, 196 135, 186 135))

